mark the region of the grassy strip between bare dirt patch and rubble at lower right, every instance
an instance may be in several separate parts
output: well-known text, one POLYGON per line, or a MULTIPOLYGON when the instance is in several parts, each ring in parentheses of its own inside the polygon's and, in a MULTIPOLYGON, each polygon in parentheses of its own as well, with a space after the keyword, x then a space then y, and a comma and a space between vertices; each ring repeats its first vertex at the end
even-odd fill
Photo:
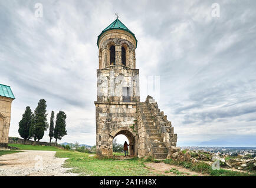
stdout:
POLYGON ((256 173, 244 173, 244 172, 237 172, 232 170, 213 170, 212 167, 209 164, 206 164, 204 162, 199 163, 191 163, 191 162, 177 162, 172 159, 166 159, 164 161, 166 164, 175 164, 179 166, 183 166, 186 169, 190 169, 195 172, 200 172, 203 174, 209 174, 210 176, 256 176, 256 173))

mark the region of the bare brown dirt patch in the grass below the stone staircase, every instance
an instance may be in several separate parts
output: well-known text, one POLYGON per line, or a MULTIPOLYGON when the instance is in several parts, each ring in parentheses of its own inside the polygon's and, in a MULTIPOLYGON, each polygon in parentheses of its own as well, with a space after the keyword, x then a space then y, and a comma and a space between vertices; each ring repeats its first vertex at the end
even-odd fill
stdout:
POLYGON ((193 172, 180 166, 165 163, 145 163, 146 166, 155 173, 166 176, 204 176, 204 174, 193 172), (172 172, 170 172, 170 170, 172 172), (168 172, 168 173, 165 173, 168 172))

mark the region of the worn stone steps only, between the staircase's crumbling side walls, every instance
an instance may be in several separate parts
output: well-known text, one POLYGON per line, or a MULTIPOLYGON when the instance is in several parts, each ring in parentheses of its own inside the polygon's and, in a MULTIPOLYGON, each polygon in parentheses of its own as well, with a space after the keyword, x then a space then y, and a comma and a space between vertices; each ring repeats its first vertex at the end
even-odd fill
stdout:
POLYGON ((160 127, 156 126, 156 119, 152 115, 152 112, 150 112, 149 106, 147 106, 146 102, 140 102, 138 108, 140 108, 143 116, 148 155, 155 159, 166 159, 168 149, 166 148, 166 143, 163 142, 160 127))

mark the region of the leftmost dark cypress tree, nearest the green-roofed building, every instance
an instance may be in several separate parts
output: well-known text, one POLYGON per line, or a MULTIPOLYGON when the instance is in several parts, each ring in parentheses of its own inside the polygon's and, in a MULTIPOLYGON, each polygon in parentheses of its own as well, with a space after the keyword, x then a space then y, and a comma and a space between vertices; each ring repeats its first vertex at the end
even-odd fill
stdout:
POLYGON ((29 127, 32 124, 32 111, 29 106, 26 107, 24 114, 22 115, 22 119, 19 122, 19 135, 24 139, 24 145, 26 144, 26 140, 29 140, 31 137, 29 136, 29 127))

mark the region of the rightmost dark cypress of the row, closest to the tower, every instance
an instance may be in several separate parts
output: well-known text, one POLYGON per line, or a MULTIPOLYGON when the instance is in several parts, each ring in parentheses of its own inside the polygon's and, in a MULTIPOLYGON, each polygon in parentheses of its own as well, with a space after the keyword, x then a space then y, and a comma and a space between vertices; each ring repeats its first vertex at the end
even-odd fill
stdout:
POLYGON ((53 136, 56 139, 55 143, 57 143, 57 140, 61 140, 63 136, 67 135, 66 119, 67 115, 65 115, 65 112, 60 111, 57 113, 53 136))

